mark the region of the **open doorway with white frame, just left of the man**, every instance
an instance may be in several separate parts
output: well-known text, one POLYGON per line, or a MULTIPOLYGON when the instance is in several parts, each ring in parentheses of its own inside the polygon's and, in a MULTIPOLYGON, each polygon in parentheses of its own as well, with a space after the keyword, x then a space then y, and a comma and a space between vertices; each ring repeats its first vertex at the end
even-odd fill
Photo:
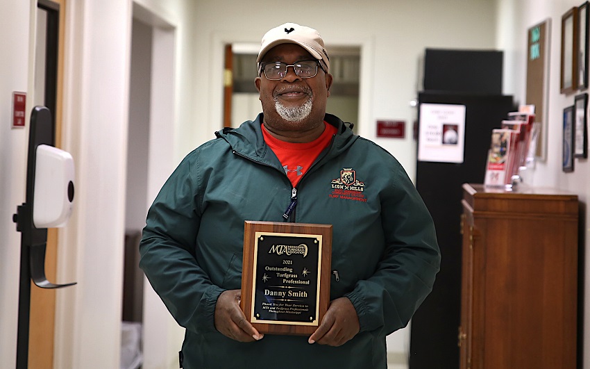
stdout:
POLYGON ((147 210, 175 166, 175 44, 174 25, 133 3, 121 368, 164 368, 182 342, 138 266, 147 210))

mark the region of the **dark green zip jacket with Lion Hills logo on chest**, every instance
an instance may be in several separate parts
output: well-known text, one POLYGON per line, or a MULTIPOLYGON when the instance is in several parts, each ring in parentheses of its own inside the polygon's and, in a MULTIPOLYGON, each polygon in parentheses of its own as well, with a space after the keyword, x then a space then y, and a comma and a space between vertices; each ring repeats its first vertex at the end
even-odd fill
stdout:
POLYGON ((386 368, 385 336, 432 290, 439 247, 412 181, 387 151, 337 117, 325 120, 338 133, 303 175, 287 220, 293 188, 264 143, 262 114, 188 154, 153 202, 140 266, 186 328, 184 368, 386 368), (241 288, 244 220, 333 225, 330 299, 355 306, 360 332, 351 341, 329 347, 267 334, 239 343, 215 329, 217 297, 241 288))

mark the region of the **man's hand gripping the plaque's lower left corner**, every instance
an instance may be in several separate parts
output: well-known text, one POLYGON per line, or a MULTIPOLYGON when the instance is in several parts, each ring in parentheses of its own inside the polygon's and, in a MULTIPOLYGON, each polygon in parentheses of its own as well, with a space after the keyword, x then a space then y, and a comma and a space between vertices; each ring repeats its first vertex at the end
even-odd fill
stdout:
POLYGON ((248 322, 239 308, 241 290, 227 290, 219 295, 215 305, 214 325, 224 336, 239 342, 258 341, 264 335, 248 322))

